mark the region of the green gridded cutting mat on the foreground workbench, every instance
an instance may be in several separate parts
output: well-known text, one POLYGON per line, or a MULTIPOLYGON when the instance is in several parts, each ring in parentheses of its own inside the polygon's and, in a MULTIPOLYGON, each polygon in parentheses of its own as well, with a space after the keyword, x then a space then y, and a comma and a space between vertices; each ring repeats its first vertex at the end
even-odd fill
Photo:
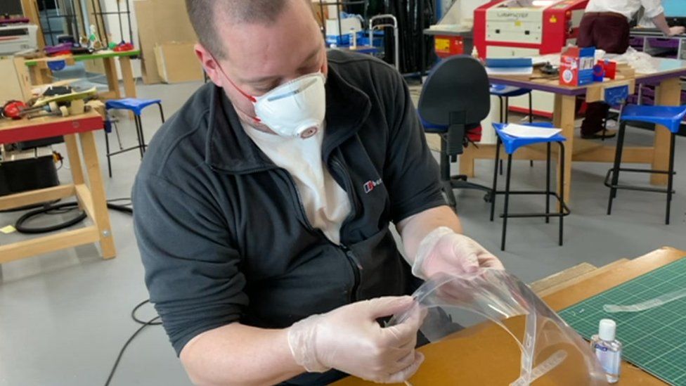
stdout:
POLYGON ((617 323, 623 359, 672 385, 686 385, 686 298, 640 312, 609 314, 604 304, 629 305, 686 288, 686 258, 611 288, 559 312, 586 339, 600 319, 617 323))

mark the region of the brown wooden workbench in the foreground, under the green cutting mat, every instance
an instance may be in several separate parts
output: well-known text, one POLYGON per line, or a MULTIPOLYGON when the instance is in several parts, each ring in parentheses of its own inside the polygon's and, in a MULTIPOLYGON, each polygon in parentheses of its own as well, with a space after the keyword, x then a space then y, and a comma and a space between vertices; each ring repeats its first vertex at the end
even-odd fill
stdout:
MULTIPOLYGON (((532 288, 537 288, 543 300, 559 311, 684 257, 686 251, 663 247, 637 259, 623 259, 600 269, 590 264, 576 266, 534 283, 532 288), (571 274, 574 272, 580 274, 571 274)), ((502 328, 466 328, 449 340, 421 347, 419 351, 425 354, 426 360, 410 380, 413 386, 509 385, 519 376, 519 347, 502 328)), ((335 385, 375 384, 351 377, 335 385)), ((664 386, 665 383, 624 362, 617 385, 664 386)))

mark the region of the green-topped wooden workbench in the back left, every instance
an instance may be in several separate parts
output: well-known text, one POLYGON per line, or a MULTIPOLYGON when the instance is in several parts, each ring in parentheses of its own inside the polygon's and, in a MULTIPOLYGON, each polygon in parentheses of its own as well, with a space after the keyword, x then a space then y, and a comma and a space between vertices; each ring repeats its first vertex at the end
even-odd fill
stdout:
POLYGON ((127 98, 136 98, 136 81, 134 79, 134 70, 131 66, 131 58, 141 56, 140 50, 134 51, 98 51, 96 53, 86 53, 82 55, 70 56, 52 56, 49 58, 27 59, 24 64, 29 67, 31 79, 34 86, 41 84, 48 84, 52 82, 51 77, 48 76, 50 69, 48 62, 65 60, 67 65, 73 65, 76 62, 85 60, 102 60, 105 65, 105 76, 108 79, 109 91, 107 93, 99 94, 100 98, 105 99, 120 99, 122 98, 122 91, 119 90, 119 77, 117 76, 117 66, 115 60, 119 60, 119 67, 122 68, 122 82, 124 83, 124 95, 127 98))

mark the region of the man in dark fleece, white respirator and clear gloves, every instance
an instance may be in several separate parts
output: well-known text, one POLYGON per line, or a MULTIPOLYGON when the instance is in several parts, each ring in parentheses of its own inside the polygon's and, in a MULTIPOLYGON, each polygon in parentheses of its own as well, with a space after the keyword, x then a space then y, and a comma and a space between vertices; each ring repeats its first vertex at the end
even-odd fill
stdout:
POLYGON ((212 84, 150 143, 134 202, 150 300, 190 379, 406 380, 423 316, 377 319, 413 306, 412 273, 503 266, 460 234, 401 75, 327 52, 309 0, 186 5, 212 84))

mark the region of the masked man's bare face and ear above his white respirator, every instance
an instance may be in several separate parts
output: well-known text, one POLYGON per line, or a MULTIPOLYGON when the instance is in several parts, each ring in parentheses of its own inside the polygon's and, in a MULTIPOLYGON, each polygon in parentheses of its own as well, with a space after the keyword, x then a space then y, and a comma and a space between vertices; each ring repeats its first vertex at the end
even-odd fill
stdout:
POLYGON ((252 119, 254 106, 238 89, 261 96, 303 75, 318 71, 327 75, 323 37, 305 1, 290 1, 278 20, 269 25, 222 22, 221 15, 216 25, 226 53, 224 58, 216 58, 221 68, 200 44, 195 52, 212 82, 224 89, 240 119, 259 129, 267 128, 252 119))

